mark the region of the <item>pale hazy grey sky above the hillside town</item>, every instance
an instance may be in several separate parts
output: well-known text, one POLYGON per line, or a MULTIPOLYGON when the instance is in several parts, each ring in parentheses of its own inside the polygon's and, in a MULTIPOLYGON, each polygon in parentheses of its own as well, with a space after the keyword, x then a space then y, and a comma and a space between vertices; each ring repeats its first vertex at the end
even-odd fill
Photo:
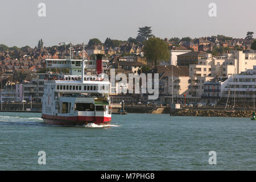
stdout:
POLYGON ((35 47, 40 38, 44 46, 90 38, 127 40, 143 26, 160 38, 245 38, 247 31, 256 37, 255 7, 255 0, 1 0, 0 44, 35 47), (46 4, 46 17, 38 16, 40 2, 46 4), (212 2, 217 17, 210 18, 212 2))

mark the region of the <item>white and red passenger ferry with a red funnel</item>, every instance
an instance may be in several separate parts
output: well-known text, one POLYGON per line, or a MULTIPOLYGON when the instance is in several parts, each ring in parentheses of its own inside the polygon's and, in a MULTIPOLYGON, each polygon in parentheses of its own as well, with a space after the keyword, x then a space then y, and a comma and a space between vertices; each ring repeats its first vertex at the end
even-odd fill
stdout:
POLYGON ((69 75, 50 75, 44 81, 42 119, 52 125, 109 125, 111 109, 108 60, 46 59, 47 68, 68 68, 69 75), (86 71, 86 72, 85 72, 86 71))

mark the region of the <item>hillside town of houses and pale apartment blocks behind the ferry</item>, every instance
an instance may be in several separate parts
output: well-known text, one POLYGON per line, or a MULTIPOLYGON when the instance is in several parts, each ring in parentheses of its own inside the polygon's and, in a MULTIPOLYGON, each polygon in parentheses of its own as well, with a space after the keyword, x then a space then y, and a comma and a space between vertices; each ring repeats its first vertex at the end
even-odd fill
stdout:
MULTIPOLYGON (((149 27, 150 28, 150 27, 149 27)), ((152 64, 144 51, 148 37, 138 35, 127 41, 107 38, 104 43, 94 38, 88 44, 44 47, 40 39, 35 48, 7 47, 0 44, 1 102, 41 102, 44 78, 57 77, 65 69, 47 69, 46 60, 94 60, 97 54, 108 60, 104 71, 110 73, 158 73, 158 100, 148 100, 146 94, 123 94, 128 84, 110 88, 113 103, 166 105, 254 106, 256 91, 256 51, 253 32, 245 38, 223 35, 187 38, 165 38, 170 59, 152 64)))

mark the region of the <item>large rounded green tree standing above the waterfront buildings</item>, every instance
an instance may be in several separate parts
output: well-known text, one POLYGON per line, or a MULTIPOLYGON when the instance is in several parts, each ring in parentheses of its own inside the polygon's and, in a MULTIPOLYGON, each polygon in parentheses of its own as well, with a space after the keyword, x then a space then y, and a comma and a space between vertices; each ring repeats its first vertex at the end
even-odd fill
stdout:
POLYGON ((160 61, 167 62, 170 60, 168 44, 163 39, 156 38, 155 36, 148 38, 144 42, 143 51, 147 60, 155 67, 160 61))

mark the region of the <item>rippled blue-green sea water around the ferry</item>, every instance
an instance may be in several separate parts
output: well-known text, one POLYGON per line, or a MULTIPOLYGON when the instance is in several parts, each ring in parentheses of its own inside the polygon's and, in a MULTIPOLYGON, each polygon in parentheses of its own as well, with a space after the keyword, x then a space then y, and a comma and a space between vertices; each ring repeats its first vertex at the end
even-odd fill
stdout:
POLYGON ((45 125, 40 113, 0 113, 0 170, 255 170, 249 118, 113 115, 105 128, 45 125), (38 164, 46 152, 46 165, 38 164), (217 165, 209 165, 209 151, 217 165))

